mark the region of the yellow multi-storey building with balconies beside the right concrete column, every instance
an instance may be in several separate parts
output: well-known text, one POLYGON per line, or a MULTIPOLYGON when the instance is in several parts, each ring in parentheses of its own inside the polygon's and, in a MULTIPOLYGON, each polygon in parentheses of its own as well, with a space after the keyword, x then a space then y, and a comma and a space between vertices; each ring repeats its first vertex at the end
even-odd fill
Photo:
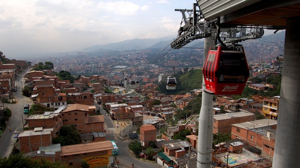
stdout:
POLYGON ((280 96, 274 96, 271 99, 263 99, 262 112, 268 119, 277 119, 280 96))

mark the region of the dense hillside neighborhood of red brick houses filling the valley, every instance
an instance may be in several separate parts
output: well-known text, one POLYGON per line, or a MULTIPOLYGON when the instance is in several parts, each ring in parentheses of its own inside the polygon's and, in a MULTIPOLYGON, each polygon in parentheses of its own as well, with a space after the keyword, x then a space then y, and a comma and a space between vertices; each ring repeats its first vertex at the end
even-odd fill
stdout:
MULTIPOLYGON (((143 84, 132 85, 128 81, 138 76, 129 77, 126 72, 134 68, 128 66, 115 66, 110 74, 113 78, 79 75, 68 80, 60 76, 67 72, 64 66, 58 73, 55 69, 36 69, 39 63, 31 65, 26 60, 10 60, 4 55, 1 61, 1 117, 7 109, 4 102, 18 103, 13 93, 19 75, 25 81, 22 85, 24 98, 32 102, 28 116, 23 119, 24 128, 16 131, 14 153, 32 159, 59 161, 71 167, 80 167, 82 160, 90 167, 118 167, 119 161, 105 126, 106 122, 112 122, 115 138, 119 140, 128 140, 131 134, 138 134, 139 141, 133 141, 142 147, 137 158, 153 160, 168 168, 196 167, 202 88, 185 94, 162 93, 157 81, 163 82, 167 74, 159 67, 149 70, 155 72, 155 78, 143 76, 140 78, 143 84), (32 70, 22 73, 26 69, 32 70), (43 110, 35 110, 37 106, 43 110), (63 141, 68 139, 59 140, 63 137, 64 126, 70 126, 67 129, 79 134, 76 144, 65 145, 63 141), (152 152, 146 152, 150 149, 152 152), (102 159, 98 161, 95 157, 102 159)), ((272 164, 280 96, 264 95, 280 90, 280 84, 269 79, 281 74, 282 65, 282 55, 268 62, 255 63, 250 66, 251 77, 245 88, 250 91, 244 97, 214 97, 211 157, 216 166, 250 168, 260 165, 266 168, 272 164)), ((188 69, 182 72, 190 73, 188 69)))

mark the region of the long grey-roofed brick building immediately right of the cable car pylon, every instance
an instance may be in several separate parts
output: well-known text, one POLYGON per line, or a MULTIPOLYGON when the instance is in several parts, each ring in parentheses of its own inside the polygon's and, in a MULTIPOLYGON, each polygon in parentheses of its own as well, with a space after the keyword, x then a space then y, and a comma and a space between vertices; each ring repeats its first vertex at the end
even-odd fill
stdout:
POLYGON ((238 112, 238 113, 225 113, 214 115, 214 128, 213 133, 231 133, 231 125, 241 122, 249 122, 255 119, 254 113, 238 112))

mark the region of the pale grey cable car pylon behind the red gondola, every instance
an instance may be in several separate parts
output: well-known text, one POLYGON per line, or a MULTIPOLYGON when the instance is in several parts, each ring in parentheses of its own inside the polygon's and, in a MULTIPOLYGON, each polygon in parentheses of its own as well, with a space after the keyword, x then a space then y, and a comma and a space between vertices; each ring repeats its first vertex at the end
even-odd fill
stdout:
MULTIPOLYGON (((214 45, 214 37, 208 37, 204 40, 204 56, 203 56, 203 62, 205 61, 207 54, 209 52, 210 46, 214 45)), ((211 129, 212 133, 212 127, 208 128, 208 94, 203 92, 203 90, 206 89, 204 78, 202 76, 202 105, 199 115, 199 130, 198 130, 198 145, 197 145, 197 168, 211 168, 210 164, 205 164, 211 162, 211 153, 212 149, 207 149, 207 144, 211 143, 212 146, 212 134, 211 134, 211 142, 208 142, 208 129, 211 129)), ((213 120, 213 115, 211 115, 211 120, 213 120)))

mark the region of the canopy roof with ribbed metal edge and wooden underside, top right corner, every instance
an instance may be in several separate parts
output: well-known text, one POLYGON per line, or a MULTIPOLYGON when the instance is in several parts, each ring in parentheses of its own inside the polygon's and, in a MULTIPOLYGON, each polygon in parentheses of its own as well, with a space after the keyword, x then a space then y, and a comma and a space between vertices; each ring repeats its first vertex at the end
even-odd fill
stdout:
POLYGON ((223 27, 259 25, 270 29, 285 29, 286 19, 300 16, 299 0, 263 0, 253 1, 253 4, 246 3, 246 0, 229 0, 223 5, 215 4, 215 0, 207 1, 206 5, 202 1, 197 0, 197 3, 200 10, 203 10, 202 13, 204 12, 203 16, 207 15, 205 19, 214 20, 220 17, 223 27))

